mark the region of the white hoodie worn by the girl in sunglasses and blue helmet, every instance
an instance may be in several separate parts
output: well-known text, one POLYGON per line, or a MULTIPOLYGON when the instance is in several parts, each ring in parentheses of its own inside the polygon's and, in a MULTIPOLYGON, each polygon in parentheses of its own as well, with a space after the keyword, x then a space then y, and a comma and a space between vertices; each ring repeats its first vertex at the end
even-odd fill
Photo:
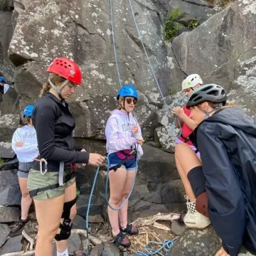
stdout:
POLYGON ((132 134, 132 127, 136 125, 139 131, 136 134, 137 138, 142 138, 142 131, 139 127, 137 119, 133 117, 132 113, 122 112, 121 110, 114 110, 107 120, 105 135, 107 137, 107 153, 112 154, 117 151, 125 149, 137 148, 138 159, 143 155, 142 146, 137 144, 134 134, 132 134))

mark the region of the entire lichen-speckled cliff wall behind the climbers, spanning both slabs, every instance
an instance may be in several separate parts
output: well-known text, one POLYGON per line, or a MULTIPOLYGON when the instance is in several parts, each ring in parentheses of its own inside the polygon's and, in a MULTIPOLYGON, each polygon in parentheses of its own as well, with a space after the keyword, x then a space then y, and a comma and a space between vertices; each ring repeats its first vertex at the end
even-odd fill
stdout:
MULTIPOLYGON (((116 107, 114 96, 119 90, 109 4, 102 1, 85 4, 80 0, 75 4, 50 0, 2 2, 1 9, 8 10, 5 15, 10 16, 14 8, 16 24, 13 35, 6 32, 9 41, 5 43, 9 47, 9 59, 16 65, 14 82, 18 94, 18 101, 13 95, 9 102, 19 103, 20 110, 34 102, 46 81, 45 70, 50 61, 60 55, 73 58, 83 72, 82 87, 70 101, 77 123, 74 135, 105 139, 105 122, 116 107)), ((161 90, 164 96, 171 94, 169 107, 180 97, 176 92, 183 78, 200 73, 204 82, 224 85, 230 100, 255 114, 254 1, 236 1, 218 14, 204 0, 154 3, 142 0, 134 1, 132 6, 161 90), (181 10, 178 22, 187 23, 196 17, 201 25, 164 45, 161 39, 164 17, 175 9, 181 10)), ((139 90, 140 103, 135 112, 144 137, 154 137, 162 149, 173 152, 175 138, 170 137, 170 129, 174 120, 164 109, 129 3, 114 2, 113 10, 120 77, 122 84, 132 83, 139 90)), ((7 54, 4 49, 3 53, 7 54)), ((18 107, 7 107, 5 111, 18 112, 18 107)))

